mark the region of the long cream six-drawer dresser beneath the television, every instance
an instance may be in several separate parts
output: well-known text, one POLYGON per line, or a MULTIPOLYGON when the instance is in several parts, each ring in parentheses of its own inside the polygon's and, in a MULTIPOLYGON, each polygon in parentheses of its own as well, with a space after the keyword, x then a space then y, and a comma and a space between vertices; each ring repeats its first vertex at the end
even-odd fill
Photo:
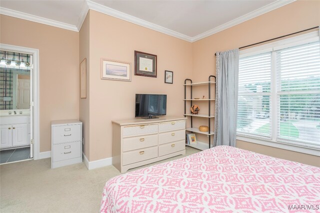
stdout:
POLYGON ((131 119, 112 121, 112 165, 128 169, 185 154, 185 119, 131 119))

